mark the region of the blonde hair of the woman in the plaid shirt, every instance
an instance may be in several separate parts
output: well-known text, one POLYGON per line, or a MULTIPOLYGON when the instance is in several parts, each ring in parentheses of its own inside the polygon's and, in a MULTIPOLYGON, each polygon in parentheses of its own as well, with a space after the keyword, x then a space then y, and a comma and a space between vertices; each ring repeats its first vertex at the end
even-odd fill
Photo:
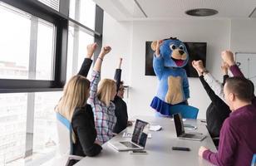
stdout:
POLYGON ((99 83, 97 96, 98 99, 105 103, 106 106, 111 104, 111 93, 115 86, 116 82, 111 79, 103 79, 99 83))

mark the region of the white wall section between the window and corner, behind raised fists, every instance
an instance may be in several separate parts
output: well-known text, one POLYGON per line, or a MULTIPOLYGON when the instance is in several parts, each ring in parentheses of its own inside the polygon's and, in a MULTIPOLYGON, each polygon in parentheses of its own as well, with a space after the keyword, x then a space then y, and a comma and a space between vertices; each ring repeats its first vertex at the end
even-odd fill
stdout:
POLYGON ((112 50, 104 59, 101 76, 103 78, 114 78, 118 61, 122 57, 122 80, 127 85, 130 71, 132 24, 130 22, 116 22, 106 12, 104 13, 103 23, 103 46, 109 45, 112 50))

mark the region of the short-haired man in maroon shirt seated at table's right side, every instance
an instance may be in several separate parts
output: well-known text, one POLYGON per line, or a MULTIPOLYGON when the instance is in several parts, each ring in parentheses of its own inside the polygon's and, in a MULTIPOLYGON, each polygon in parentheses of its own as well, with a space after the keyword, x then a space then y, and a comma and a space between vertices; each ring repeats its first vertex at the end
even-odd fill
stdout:
POLYGON ((252 105, 254 90, 244 77, 232 77, 224 85, 224 98, 232 113, 220 131, 219 150, 211 152, 203 146, 199 156, 216 165, 250 165, 256 154, 256 107, 252 105))

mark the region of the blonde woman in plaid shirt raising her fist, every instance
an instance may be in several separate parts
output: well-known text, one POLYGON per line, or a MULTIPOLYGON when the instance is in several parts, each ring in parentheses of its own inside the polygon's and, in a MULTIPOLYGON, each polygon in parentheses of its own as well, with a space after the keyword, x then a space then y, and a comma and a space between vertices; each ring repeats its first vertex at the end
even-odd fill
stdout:
POLYGON ((104 56, 110 51, 110 46, 101 48, 101 53, 91 74, 91 90, 88 99, 95 117, 97 140, 101 144, 106 143, 113 137, 112 131, 116 125, 116 107, 111 101, 114 100, 116 95, 116 82, 110 79, 100 81, 101 63, 104 56))

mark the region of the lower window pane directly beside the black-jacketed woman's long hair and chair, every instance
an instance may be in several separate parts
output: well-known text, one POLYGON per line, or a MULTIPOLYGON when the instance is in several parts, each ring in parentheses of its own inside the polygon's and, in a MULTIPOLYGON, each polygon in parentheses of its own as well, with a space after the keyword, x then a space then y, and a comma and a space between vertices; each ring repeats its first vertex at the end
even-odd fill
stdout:
POLYGON ((54 111, 61 92, 35 93, 33 154, 43 156, 57 149, 57 121, 54 111))

